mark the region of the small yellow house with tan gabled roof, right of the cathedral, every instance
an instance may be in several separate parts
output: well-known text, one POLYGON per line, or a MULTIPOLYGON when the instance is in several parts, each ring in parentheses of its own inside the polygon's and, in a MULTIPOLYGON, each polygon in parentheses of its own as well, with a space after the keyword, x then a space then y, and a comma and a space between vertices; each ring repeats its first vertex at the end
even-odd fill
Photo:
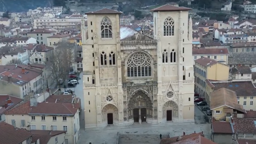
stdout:
POLYGON ((219 121, 229 121, 240 114, 246 113, 243 106, 238 104, 236 99, 236 92, 226 88, 214 90, 211 93, 210 108, 212 111, 212 118, 219 121))

